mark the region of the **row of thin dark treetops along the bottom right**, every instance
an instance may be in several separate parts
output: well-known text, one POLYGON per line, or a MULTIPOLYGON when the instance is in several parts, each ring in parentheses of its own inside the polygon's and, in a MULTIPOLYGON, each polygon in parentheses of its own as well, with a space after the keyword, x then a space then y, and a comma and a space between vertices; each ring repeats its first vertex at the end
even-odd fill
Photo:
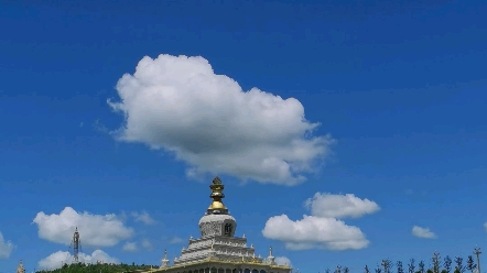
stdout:
MULTIPOLYGON (((455 259, 446 255, 443 260, 440 253, 433 253, 431 263, 428 265, 421 260, 418 264, 414 259, 411 259, 408 264, 403 265, 402 261, 397 261, 396 263, 391 260, 382 260, 380 264, 372 270, 368 265, 364 267, 364 273, 465 273, 469 271, 470 273, 476 272, 477 264, 474 258, 469 255, 464 262, 462 256, 456 256, 455 259)), ((333 273, 349 273, 350 270, 347 266, 336 266, 333 273)), ((332 273, 329 269, 325 270, 325 273, 332 273)), ((480 272, 479 272, 480 273, 480 272)))

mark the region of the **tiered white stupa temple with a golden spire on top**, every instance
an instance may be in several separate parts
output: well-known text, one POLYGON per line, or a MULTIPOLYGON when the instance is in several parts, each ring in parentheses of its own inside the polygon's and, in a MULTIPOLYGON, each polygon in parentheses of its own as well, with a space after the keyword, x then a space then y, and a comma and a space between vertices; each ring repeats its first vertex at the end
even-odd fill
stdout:
POLYGON ((167 252, 161 266, 151 272, 166 273, 290 273, 288 264, 278 265, 269 248, 267 258, 256 256, 253 245, 247 245, 246 237, 235 237, 237 221, 230 216, 221 199, 225 188, 220 178, 212 185, 213 201, 199 220, 201 238, 190 238, 187 248, 170 265, 167 252))

